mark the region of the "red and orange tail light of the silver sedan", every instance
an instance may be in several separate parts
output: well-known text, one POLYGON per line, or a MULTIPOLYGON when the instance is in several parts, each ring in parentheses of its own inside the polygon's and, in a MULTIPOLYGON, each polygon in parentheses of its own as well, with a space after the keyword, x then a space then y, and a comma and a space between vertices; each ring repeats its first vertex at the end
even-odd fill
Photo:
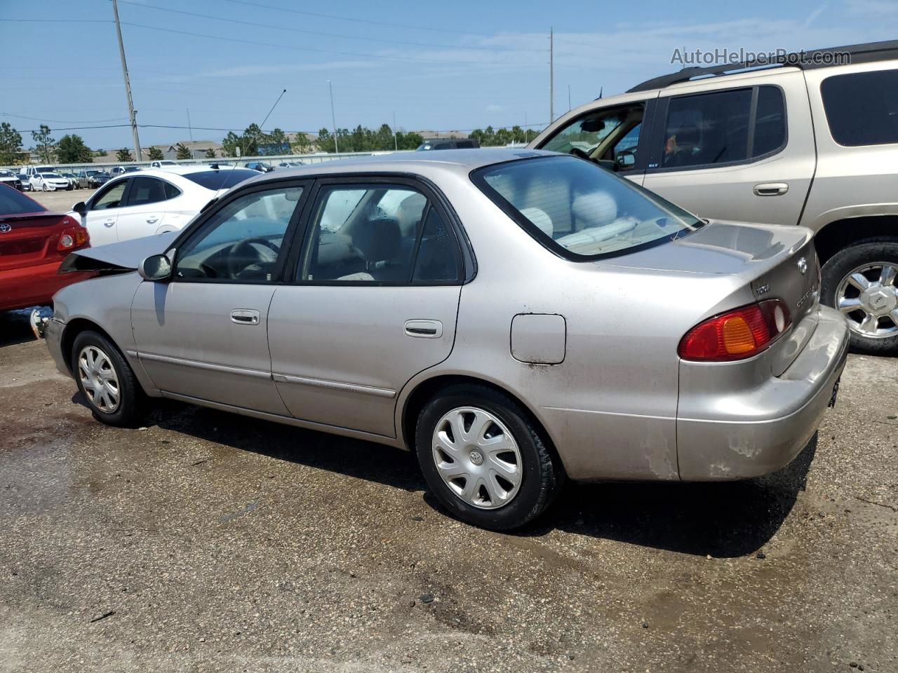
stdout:
POLYGON ((677 353, 698 362, 743 360, 761 353, 791 324, 786 303, 769 299, 700 322, 682 337, 677 353))

